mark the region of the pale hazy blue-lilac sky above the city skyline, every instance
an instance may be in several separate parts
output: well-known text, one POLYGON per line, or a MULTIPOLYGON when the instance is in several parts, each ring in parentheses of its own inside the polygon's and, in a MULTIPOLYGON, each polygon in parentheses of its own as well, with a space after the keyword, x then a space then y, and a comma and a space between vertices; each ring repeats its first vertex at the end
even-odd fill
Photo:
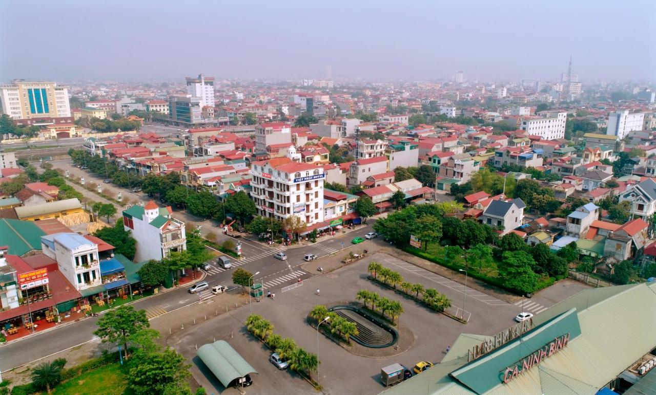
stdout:
POLYGON ((0 0, 0 81, 656 80, 656 1, 0 0))

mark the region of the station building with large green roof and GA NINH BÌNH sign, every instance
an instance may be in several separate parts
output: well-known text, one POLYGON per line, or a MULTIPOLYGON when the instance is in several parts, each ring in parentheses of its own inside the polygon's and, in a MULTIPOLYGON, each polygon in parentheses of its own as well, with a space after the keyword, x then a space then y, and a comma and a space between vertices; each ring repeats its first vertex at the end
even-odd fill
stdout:
POLYGON ((653 282, 584 290, 501 333, 462 334, 384 394, 622 393, 656 363, 655 326, 653 282))

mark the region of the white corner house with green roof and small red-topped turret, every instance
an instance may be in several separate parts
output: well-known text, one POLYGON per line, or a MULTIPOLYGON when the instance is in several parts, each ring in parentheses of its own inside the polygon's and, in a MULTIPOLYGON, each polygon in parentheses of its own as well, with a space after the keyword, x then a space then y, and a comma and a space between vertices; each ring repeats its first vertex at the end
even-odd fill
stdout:
POLYGON ((136 240, 135 261, 161 261, 171 251, 187 249, 184 222, 172 213, 171 206, 159 207, 153 200, 123 211, 123 229, 131 231, 136 240))

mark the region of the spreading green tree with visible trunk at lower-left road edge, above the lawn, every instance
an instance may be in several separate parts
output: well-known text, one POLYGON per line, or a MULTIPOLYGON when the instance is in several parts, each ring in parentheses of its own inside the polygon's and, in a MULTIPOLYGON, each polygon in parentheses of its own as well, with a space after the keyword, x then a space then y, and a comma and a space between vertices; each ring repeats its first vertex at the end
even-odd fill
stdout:
POLYGON ((98 329, 93 334, 100 337, 103 343, 123 345, 125 358, 128 356, 129 338, 141 329, 150 327, 146 310, 134 310, 134 307, 127 305, 109 310, 96 324, 98 329))

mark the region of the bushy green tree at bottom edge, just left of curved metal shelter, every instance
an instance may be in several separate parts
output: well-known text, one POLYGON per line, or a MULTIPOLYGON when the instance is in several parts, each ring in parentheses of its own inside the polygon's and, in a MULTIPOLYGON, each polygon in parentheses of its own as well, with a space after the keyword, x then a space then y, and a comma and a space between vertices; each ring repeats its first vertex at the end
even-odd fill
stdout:
POLYGON ((130 364, 129 387, 134 394, 189 394, 191 374, 184 356, 173 348, 138 354, 130 364))

